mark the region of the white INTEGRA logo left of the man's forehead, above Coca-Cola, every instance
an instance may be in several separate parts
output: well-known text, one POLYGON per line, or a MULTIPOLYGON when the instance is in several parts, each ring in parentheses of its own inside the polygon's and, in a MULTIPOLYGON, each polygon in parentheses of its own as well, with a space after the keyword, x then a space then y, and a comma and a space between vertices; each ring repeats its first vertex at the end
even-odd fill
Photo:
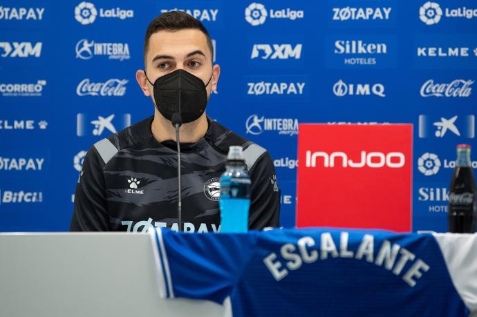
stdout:
POLYGON ((76 58, 91 59, 94 56, 107 56, 109 59, 130 59, 127 43, 98 43, 93 40, 80 39, 75 47, 76 58))

